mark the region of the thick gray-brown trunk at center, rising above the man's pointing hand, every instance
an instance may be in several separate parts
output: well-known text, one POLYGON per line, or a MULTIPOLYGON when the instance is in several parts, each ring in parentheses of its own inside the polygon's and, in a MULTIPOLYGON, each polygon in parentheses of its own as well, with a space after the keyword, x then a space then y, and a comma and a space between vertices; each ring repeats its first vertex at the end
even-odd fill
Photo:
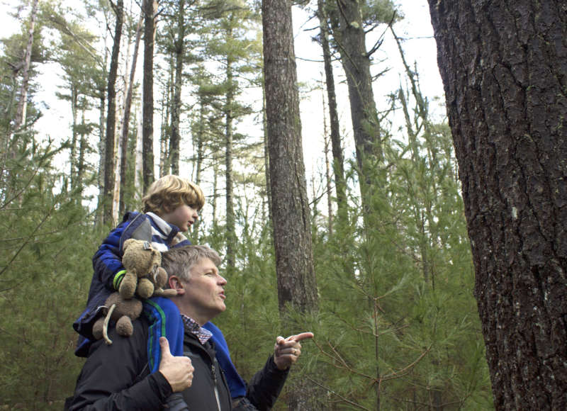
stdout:
POLYGON ((301 143, 301 119, 291 2, 262 1, 264 79, 274 246, 281 312, 318 306, 311 224, 301 143))

